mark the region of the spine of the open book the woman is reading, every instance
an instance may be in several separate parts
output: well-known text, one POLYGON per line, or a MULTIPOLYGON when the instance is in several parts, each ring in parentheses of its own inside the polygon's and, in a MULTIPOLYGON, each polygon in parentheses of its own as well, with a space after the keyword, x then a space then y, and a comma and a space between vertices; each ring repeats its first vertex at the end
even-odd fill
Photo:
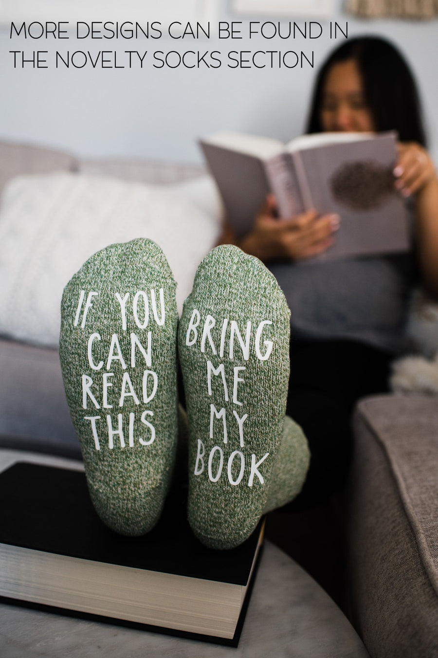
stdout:
POLYGON ((281 218, 293 217, 304 211, 303 197, 290 153, 281 153, 264 163, 266 177, 276 195, 281 218))

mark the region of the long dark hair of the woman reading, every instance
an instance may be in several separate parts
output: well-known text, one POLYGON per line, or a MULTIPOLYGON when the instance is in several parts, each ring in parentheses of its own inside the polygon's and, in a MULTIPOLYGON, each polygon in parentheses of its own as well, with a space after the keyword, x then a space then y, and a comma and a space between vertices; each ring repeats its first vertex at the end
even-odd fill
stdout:
POLYGON ((372 36, 346 41, 322 65, 316 78, 306 132, 322 132, 320 108, 326 75, 333 64, 348 59, 354 59, 358 65, 365 101, 377 131, 397 130, 401 141, 418 141, 426 146, 414 76, 395 46, 372 36))

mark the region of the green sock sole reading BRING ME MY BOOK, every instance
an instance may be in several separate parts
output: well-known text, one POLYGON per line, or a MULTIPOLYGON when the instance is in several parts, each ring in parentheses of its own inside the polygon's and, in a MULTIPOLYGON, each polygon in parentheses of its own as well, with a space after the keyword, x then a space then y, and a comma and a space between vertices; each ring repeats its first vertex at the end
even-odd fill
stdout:
POLYGON ((189 523, 203 544, 231 548, 264 511, 283 430, 289 309, 274 276, 233 245, 210 251, 184 303, 178 348, 190 434, 189 523), (224 417, 214 411, 222 409, 226 437, 224 417))

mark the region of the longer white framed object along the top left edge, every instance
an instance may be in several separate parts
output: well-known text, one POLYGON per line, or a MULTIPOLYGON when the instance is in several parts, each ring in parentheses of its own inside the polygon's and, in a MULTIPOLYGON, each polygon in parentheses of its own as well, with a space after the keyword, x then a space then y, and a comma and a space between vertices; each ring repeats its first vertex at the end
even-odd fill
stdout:
POLYGON ((173 21, 216 20, 218 0, 0 0, 0 24, 78 21, 173 21))

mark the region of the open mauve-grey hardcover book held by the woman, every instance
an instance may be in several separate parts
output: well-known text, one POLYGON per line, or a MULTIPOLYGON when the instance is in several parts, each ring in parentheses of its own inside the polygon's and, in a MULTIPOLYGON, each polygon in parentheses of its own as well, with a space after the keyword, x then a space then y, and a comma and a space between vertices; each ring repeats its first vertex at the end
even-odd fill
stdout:
POLYGON ((316 257, 333 259, 409 248, 406 209, 394 187, 395 141, 393 132, 320 133, 283 145, 224 132, 201 139, 201 147, 238 238, 273 192, 282 218, 310 209, 341 216, 335 244, 316 257))

